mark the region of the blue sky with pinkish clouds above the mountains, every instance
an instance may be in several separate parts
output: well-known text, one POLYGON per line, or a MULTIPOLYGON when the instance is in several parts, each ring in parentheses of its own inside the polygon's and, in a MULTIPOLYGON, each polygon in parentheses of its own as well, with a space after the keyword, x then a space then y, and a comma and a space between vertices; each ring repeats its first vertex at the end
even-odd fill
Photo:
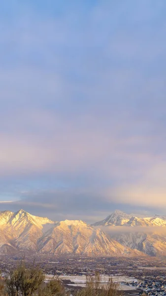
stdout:
POLYGON ((0 9, 0 210, 166 214, 166 1, 0 9))

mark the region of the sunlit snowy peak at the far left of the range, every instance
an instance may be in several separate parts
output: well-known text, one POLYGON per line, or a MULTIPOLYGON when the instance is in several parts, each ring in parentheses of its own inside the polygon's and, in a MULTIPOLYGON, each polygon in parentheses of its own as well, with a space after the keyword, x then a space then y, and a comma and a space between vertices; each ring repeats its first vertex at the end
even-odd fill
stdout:
POLYGON ((33 216, 24 210, 16 213, 0 212, 0 251, 17 249, 37 250, 37 240, 43 235, 44 226, 53 227, 48 218, 33 216))

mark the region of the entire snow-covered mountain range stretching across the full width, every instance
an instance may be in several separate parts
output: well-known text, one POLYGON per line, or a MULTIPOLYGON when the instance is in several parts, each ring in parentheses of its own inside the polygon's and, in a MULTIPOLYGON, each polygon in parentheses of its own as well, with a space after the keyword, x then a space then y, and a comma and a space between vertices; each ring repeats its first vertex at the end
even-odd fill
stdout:
POLYGON ((165 227, 164 216, 138 218, 121 211, 93 225, 81 220, 54 222, 22 209, 16 213, 3 211, 0 254, 23 251, 89 257, 166 256, 166 236, 161 233, 161 229, 166 233, 165 227))

